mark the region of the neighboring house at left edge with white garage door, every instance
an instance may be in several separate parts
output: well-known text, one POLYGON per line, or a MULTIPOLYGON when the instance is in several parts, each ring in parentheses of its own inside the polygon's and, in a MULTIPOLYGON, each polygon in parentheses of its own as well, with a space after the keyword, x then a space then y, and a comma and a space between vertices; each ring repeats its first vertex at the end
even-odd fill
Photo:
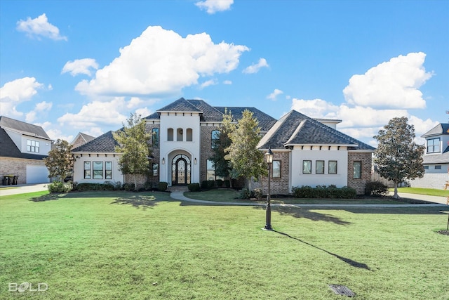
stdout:
POLYGON ((18 176, 18 184, 48 183, 48 156, 53 141, 41 126, 0 116, 0 176, 18 176))

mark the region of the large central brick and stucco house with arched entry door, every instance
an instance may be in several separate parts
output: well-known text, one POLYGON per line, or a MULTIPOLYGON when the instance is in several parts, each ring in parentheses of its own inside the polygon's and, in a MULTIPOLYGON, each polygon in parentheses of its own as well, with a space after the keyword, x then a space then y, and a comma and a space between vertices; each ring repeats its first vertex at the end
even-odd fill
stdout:
MULTIPOLYGON (((259 149, 265 152, 271 147, 274 152, 272 193, 291 193, 293 187, 301 185, 331 184, 348 185, 364 193, 375 149, 337 131, 335 125, 340 121, 319 122, 295 110, 276 121, 255 107, 213 107, 203 100, 184 98, 144 118, 152 133, 152 173, 149 178, 140 178, 139 184, 165 181, 168 185, 185 185, 217 178, 210 157, 225 110, 235 121, 244 110, 257 118, 263 136, 259 149)), ((120 154, 114 152, 115 145, 109 131, 75 148, 74 181, 132 183, 119 171, 120 154)), ((266 178, 262 179, 262 188, 267 193, 266 178)))

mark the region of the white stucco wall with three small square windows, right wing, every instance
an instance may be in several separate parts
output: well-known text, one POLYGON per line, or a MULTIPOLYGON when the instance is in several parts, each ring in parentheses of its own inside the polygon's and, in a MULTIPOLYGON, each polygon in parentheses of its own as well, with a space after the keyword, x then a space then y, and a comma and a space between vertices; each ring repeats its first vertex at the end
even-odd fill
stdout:
POLYGON ((336 185, 337 188, 342 188, 347 185, 347 165, 348 153, 346 147, 340 147, 337 150, 336 146, 328 149, 328 145, 323 146, 319 150, 319 146, 295 146, 291 152, 290 176, 292 187, 309 185, 315 187, 316 185, 336 185), (302 174, 302 161, 311 160, 311 174, 302 174), (316 174, 315 166, 317 160, 324 160, 324 174, 316 174), (337 174, 328 174, 329 160, 337 161, 337 174))

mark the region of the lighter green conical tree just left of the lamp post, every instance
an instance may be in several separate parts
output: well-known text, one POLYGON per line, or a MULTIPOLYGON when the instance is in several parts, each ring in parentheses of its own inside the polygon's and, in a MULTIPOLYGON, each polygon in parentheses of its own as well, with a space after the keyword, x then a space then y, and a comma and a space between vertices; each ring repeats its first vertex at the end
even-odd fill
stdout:
POLYGON ((243 176, 248 183, 250 178, 260 178, 267 175, 267 166, 264 163, 264 155, 257 149, 260 141, 260 127, 253 112, 243 111, 243 116, 237 123, 236 129, 229 134, 231 145, 226 148, 225 156, 231 162, 231 176, 238 178, 243 176))

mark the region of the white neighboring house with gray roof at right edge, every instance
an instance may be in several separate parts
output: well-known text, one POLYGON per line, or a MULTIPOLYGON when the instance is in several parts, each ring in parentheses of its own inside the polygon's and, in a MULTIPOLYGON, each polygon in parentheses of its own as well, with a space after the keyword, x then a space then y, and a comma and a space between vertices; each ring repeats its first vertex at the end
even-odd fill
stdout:
POLYGON ((424 177, 410 181, 410 186, 443 190, 449 181, 449 124, 438 124, 421 137, 426 139, 424 177))

